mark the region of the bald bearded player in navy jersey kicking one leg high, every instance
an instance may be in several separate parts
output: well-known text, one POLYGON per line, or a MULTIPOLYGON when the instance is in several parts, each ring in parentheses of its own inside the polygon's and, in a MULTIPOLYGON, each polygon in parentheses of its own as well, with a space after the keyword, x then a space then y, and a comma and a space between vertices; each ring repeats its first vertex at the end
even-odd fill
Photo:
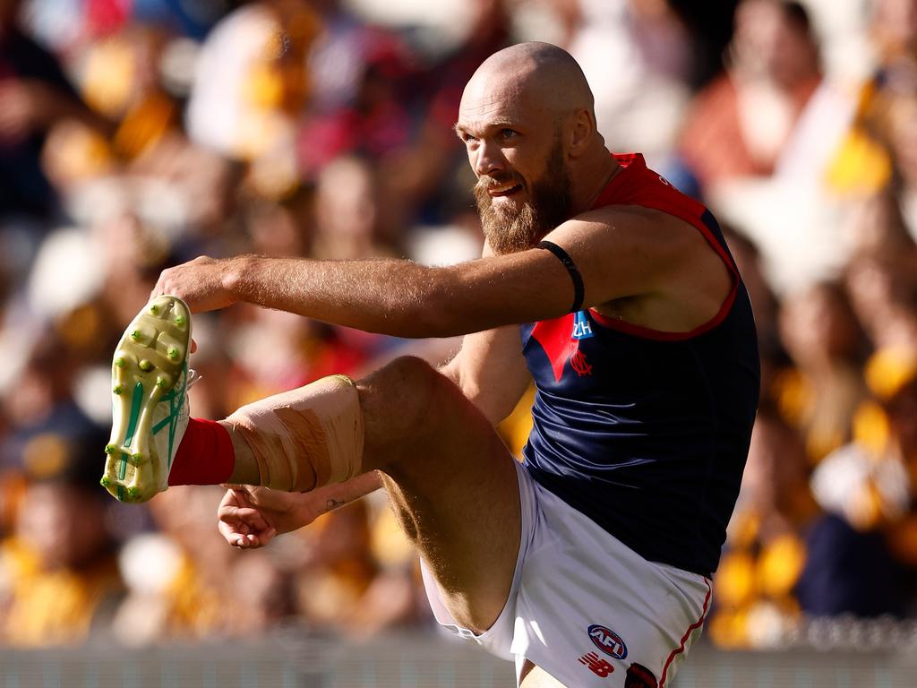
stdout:
POLYGON ((162 272, 116 354, 103 482, 126 500, 167 475, 236 483, 220 529, 254 548, 381 481, 437 620, 514 658, 525 688, 665 685, 709 609, 755 416, 745 287, 702 205, 605 149, 564 50, 492 55, 456 132, 480 260, 202 257, 162 272), (239 301, 465 338, 438 372, 403 358, 189 423, 186 309, 239 301), (533 380, 520 463, 494 426, 533 380))

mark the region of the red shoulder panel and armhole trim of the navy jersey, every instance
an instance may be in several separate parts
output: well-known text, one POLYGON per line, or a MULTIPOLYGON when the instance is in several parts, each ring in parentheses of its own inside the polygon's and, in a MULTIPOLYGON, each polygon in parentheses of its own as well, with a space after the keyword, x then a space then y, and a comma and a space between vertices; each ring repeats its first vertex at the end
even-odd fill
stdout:
POLYGON ((738 292, 739 286, 739 272, 735 267, 735 262, 730 257, 729 252, 713 235, 711 228, 704 224, 702 217, 707 209, 701 203, 682 194, 671 183, 668 183, 664 177, 649 170, 642 154, 613 153, 613 158, 624 170, 614 176, 614 179, 604 188, 599 200, 592 207, 639 205, 653 210, 660 210, 685 222, 690 222, 693 227, 701 232, 702 237, 725 263, 732 277, 733 285, 716 315, 689 332, 667 332, 661 329, 653 329, 652 327, 642 327, 624 320, 602 316, 601 313, 590 309, 592 317, 602 327, 616 329, 625 334, 646 339, 682 341, 702 335, 722 323, 735 303, 735 294, 738 292), (653 183, 656 181, 659 184, 653 183))

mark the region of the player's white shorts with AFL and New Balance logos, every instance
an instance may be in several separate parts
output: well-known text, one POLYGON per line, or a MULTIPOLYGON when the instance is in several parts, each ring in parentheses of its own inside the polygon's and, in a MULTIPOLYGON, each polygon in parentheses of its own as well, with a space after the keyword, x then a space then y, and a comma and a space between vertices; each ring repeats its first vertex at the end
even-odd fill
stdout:
POLYGON ((661 688, 701 634, 705 577, 647 561, 516 465, 522 539, 503 612, 481 635, 458 627, 423 568, 436 621, 460 638, 531 660, 569 688, 661 688))

